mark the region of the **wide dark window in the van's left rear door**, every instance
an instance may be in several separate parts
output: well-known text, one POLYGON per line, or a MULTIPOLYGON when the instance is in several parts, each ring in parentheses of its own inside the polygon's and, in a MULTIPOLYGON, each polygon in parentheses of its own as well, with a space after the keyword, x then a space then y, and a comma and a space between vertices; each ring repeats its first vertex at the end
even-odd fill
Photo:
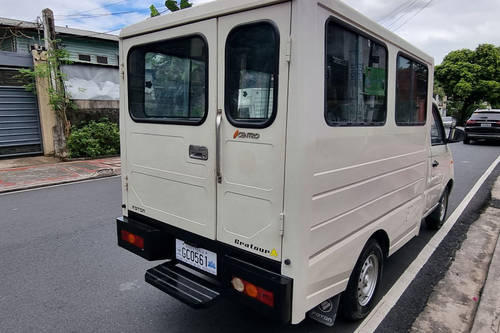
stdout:
POLYGON ((129 109, 135 121, 199 125, 207 114, 208 50, 200 36, 133 48, 129 109))

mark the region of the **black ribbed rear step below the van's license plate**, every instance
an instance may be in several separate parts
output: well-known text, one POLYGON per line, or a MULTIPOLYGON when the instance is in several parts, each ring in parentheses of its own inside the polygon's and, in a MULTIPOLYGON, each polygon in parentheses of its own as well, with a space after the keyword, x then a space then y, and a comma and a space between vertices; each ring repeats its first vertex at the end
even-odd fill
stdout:
POLYGON ((179 267, 175 261, 146 271, 146 282, 193 308, 206 308, 220 295, 221 288, 179 267))

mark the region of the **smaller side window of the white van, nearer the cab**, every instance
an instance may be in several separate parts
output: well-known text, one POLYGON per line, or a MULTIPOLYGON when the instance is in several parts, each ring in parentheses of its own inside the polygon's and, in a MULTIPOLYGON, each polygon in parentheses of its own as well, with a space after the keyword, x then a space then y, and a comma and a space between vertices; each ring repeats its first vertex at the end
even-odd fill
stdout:
POLYGON ((398 55, 396 124, 423 126, 427 118, 427 66, 398 55))

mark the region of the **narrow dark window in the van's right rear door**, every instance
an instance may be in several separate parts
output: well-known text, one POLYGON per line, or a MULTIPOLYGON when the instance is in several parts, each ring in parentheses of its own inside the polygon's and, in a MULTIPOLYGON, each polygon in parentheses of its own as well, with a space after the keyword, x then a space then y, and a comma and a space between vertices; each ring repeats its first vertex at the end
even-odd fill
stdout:
POLYGON ((276 114, 279 36, 270 23, 235 28, 226 42, 226 114, 241 127, 265 127, 276 114))

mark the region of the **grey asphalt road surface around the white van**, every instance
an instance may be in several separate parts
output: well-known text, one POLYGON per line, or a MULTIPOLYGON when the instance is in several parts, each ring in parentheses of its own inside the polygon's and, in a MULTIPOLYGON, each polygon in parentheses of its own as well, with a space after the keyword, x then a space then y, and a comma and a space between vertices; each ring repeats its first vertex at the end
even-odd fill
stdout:
MULTIPOLYGON (((459 143, 452 150, 456 184, 449 214, 499 155, 500 146, 459 143)), ((0 196, 0 331, 332 331, 309 320, 279 326, 226 300, 195 311, 146 284, 145 270, 157 263, 116 245, 114 218, 120 205, 118 178, 0 196)), ((384 291, 432 235, 422 229, 388 260, 384 291)), ((334 328, 351 332, 356 324, 338 320, 334 328)))

